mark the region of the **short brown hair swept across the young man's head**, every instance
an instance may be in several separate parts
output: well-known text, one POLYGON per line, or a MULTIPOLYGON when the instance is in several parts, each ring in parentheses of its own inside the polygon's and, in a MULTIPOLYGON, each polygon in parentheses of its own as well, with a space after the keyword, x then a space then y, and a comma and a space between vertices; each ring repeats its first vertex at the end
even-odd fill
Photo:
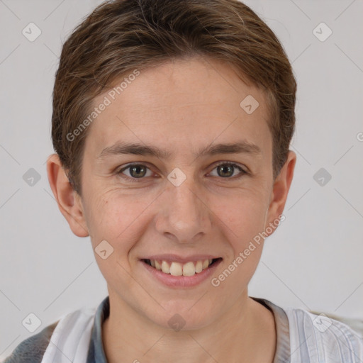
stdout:
POLYGON ((87 128, 72 140, 69 135, 94 98, 135 69, 197 56, 225 61, 266 92, 277 177, 294 134, 296 80, 267 24, 237 0, 114 0, 67 38, 55 77, 52 142, 79 195, 87 128))

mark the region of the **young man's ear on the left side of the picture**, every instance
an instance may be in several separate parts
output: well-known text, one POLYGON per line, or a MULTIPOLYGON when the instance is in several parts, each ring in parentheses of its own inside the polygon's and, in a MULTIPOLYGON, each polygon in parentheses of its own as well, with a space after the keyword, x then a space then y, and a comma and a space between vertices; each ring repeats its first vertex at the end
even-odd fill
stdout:
POLYGON ((69 224, 74 235, 87 237, 89 231, 86 227, 81 197, 69 183, 65 169, 57 154, 52 154, 47 160, 47 172, 50 188, 57 201, 60 212, 69 224))

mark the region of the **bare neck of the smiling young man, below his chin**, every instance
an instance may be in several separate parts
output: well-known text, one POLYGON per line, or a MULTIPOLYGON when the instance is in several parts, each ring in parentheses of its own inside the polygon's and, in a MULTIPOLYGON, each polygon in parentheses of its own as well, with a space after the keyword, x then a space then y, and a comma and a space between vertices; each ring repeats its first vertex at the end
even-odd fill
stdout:
POLYGON ((249 298, 247 291, 213 323, 180 331, 155 324, 110 293, 110 315, 102 325, 102 340, 108 363, 272 363, 276 328, 272 312, 249 298))

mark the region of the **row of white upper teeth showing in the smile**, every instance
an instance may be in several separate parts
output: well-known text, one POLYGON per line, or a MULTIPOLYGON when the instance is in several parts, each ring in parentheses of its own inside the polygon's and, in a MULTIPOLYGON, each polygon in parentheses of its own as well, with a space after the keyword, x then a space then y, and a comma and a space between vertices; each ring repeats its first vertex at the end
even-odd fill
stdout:
POLYGON ((172 262, 169 264, 163 260, 160 264, 156 259, 150 259, 150 264, 155 269, 164 272, 164 274, 171 274, 172 276, 193 276, 194 274, 201 273, 212 261, 213 259, 200 259, 195 264, 194 262, 186 262, 186 264, 172 262))

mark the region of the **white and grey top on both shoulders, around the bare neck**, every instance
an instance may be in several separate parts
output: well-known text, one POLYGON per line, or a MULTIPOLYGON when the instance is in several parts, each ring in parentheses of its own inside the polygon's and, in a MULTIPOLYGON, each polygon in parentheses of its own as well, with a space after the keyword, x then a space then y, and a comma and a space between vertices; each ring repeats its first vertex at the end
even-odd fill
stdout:
MULTIPOLYGON (((274 314, 274 363, 363 363, 363 338, 347 325, 300 308, 281 308, 264 298, 252 298, 274 314)), ((107 296, 96 309, 63 316, 21 342, 4 363, 107 363, 101 328, 109 308, 107 296), (74 345, 72 350, 65 347, 67 339, 74 345), (52 354, 59 355, 55 358, 52 354)))

